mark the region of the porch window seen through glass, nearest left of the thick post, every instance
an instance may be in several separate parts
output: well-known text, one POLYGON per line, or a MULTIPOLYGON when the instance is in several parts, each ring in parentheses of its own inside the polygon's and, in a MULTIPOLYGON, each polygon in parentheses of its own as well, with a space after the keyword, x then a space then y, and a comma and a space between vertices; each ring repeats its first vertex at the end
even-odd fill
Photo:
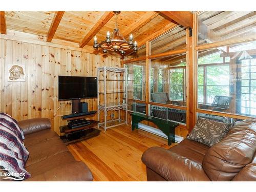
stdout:
POLYGON ((170 69, 169 98, 184 101, 184 72, 185 68, 170 69))

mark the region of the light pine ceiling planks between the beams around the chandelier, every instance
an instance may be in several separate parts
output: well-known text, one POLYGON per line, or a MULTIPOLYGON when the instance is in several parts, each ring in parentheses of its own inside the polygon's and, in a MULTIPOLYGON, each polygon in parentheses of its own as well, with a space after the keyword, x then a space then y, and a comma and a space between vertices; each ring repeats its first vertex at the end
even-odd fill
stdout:
MULTIPOLYGON (((54 11, 6 11, 7 29, 47 36, 55 13, 54 11)), ((65 11, 53 38, 79 43, 98 20, 102 19, 104 13, 104 11, 65 11)), ((169 20, 154 11, 122 11, 118 16, 118 28, 122 34, 125 34, 126 39, 130 35, 130 29, 134 25, 137 26, 132 32, 138 42, 169 23, 169 20)), ((97 38, 105 39, 106 31, 112 32, 114 28, 115 17, 112 16, 96 33, 97 38)), ((93 38, 87 45, 93 45, 93 38)))

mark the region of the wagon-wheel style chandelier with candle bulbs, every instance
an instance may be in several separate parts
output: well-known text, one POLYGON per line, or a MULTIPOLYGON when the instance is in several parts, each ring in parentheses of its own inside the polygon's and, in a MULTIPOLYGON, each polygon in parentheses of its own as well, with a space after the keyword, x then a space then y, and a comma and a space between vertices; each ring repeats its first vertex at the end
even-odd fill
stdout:
POLYGON ((133 42, 133 35, 131 34, 129 37, 129 41, 126 41, 122 34, 120 33, 119 29, 117 28, 117 16, 120 14, 120 11, 113 11, 116 16, 116 27, 110 36, 110 32, 106 32, 106 40, 101 41, 98 43, 97 37, 94 36, 94 45, 93 48, 98 50, 99 48, 102 49, 102 52, 108 53, 108 51, 116 51, 119 52, 121 55, 124 55, 127 50, 134 50, 135 52, 138 50, 137 42, 133 42))

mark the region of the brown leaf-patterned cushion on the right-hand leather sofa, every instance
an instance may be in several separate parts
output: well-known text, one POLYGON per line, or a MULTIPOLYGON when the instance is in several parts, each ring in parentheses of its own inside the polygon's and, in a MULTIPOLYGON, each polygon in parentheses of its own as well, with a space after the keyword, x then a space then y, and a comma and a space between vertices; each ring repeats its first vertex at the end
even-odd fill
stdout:
POLYGON ((193 130, 187 136, 188 139, 206 144, 209 147, 219 143, 230 129, 231 123, 212 121, 199 118, 193 130))

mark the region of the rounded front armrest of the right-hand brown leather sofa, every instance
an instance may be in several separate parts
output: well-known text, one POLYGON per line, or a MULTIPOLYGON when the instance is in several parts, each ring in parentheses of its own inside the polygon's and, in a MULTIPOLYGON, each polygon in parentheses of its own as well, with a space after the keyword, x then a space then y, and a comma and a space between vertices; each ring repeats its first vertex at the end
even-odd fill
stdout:
POLYGON ((167 181, 210 181, 202 165, 161 147, 151 147, 142 162, 167 181))

